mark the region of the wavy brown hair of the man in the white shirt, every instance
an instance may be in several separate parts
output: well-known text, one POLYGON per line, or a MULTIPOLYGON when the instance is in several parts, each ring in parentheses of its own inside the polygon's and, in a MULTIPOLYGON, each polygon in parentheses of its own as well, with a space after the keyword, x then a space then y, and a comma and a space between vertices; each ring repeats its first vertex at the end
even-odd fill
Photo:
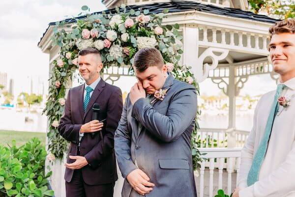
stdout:
POLYGON ((277 33, 295 33, 295 19, 286 19, 276 22, 269 28, 270 39, 273 34, 277 33))

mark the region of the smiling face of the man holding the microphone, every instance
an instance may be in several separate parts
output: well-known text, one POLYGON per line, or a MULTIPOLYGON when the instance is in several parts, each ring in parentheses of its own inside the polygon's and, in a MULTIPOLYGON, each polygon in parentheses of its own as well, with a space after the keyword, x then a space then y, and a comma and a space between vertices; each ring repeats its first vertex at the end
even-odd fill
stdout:
POLYGON ((87 84, 92 84, 99 77, 102 62, 98 54, 78 56, 79 73, 87 84))

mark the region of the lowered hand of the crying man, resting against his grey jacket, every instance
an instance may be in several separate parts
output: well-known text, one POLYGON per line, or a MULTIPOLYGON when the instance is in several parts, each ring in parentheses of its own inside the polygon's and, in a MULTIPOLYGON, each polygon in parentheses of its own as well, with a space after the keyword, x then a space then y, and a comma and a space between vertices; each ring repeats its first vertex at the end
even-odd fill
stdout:
POLYGON ((145 195, 152 191, 152 187, 155 185, 151 182, 148 182, 150 179, 148 175, 141 169, 135 169, 131 171, 127 177, 127 181, 131 187, 140 195, 145 195))

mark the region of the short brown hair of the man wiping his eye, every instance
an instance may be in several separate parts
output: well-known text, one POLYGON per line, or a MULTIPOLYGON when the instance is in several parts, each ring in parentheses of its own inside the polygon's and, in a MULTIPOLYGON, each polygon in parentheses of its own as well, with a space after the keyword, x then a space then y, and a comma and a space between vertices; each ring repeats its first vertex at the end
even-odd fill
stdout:
POLYGON ((133 67, 139 72, 145 71, 149 66, 158 66, 162 68, 163 65, 163 57, 156 48, 143 48, 139 50, 133 58, 133 67))

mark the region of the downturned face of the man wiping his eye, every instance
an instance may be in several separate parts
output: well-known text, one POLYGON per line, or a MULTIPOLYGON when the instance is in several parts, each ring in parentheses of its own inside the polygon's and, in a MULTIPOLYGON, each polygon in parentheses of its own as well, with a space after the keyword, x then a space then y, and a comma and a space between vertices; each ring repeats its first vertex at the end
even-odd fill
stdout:
POLYGON ((143 84, 147 94, 154 94, 156 90, 163 87, 167 78, 167 66, 149 66, 143 72, 135 68, 135 76, 143 84))

